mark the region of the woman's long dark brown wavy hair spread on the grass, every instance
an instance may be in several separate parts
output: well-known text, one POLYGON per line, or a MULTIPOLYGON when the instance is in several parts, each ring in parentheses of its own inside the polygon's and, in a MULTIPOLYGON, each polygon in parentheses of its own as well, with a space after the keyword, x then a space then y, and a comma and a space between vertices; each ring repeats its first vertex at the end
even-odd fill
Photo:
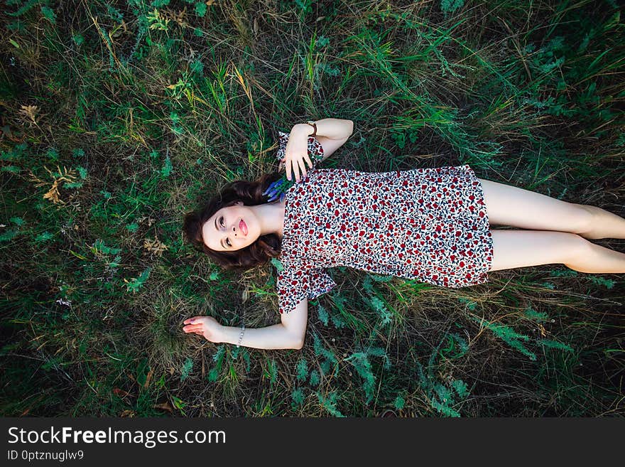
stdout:
POLYGON ((237 180, 228 183, 218 195, 210 198, 203 208, 185 214, 183 231, 188 242, 197 251, 206 253, 225 269, 250 269, 268 262, 270 258, 277 257, 282 241, 276 234, 261 235, 249 247, 237 249, 234 252, 218 252, 207 247, 202 240, 202 225, 218 210, 232 206, 237 201, 242 201, 246 206, 267 203, 267 197, 262 194, 263 191, 281 176, 281 173, 274 172, 263 175, 256 181, 237 180))

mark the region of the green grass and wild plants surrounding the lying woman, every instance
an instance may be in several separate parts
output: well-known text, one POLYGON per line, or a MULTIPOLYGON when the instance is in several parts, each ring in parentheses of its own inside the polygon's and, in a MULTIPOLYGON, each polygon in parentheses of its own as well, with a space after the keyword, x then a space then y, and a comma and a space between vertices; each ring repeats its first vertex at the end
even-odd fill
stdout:
POLYGON ((279 322, 273 265, 224 272, 181 225, 306 119, 354 121, 325 167, 468 163, 624 215, 616 2, 206 3, 4 1, 1 414, 624 415, 619 274, 338 268, 303 350, 181 326, 279 322))

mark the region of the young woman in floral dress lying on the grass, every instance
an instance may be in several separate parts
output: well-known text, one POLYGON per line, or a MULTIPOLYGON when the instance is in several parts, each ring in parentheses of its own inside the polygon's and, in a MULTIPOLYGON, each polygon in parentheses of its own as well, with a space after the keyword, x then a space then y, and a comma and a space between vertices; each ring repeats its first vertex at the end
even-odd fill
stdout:
POLYGON ((483 180, 468 165, 384 173, 315 168, 352 131, 351 120, 296 124, 280 134, 278 159, 288 182, 278 180, 280 173, 234 181, 185 216, 188 240, 225 268, 278 259, 281 313, 281 323, 251 329, 195 316, 184 322, 185 333, 300 349, 308 299, 336 285, 325 269, 337 266, 453 288, 482 284, 490 271, 539 264, 625 272, 624 253, 589 242, 625 238, 625 219, 601 208, 483 180))

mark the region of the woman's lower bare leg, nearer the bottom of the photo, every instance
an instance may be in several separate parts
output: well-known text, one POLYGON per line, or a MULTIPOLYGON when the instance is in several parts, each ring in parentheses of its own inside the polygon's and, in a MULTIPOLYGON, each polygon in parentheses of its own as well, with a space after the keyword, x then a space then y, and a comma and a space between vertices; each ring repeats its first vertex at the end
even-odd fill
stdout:
POLYGON ((625 273, 625 253, 594 245, 580 235, 545 230, 491 230, 491 271, 564 264, 579 272, 625 273))

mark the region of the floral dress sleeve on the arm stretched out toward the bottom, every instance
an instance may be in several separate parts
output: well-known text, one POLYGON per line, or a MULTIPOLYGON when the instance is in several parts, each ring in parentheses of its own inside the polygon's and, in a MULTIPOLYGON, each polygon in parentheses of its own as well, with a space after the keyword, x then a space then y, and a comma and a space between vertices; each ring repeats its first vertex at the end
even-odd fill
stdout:
POLYGON ((289 313, 300 301, 317 298, 332 290, 337 284, 322 268, 283 267, 278 272, 278 311, 289 313))

